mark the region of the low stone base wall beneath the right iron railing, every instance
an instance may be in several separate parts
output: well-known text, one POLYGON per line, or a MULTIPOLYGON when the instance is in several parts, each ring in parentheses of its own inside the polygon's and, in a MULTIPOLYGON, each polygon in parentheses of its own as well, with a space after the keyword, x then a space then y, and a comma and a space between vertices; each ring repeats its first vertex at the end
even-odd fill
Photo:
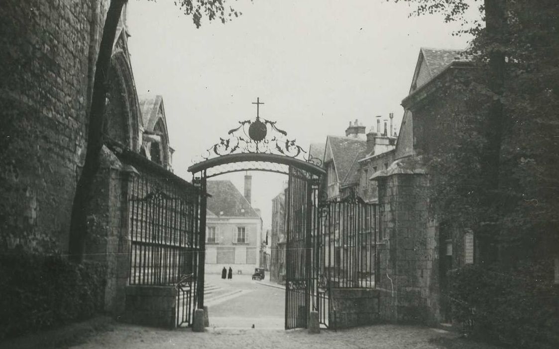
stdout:
POLYGON ((370 325, 378 321, 378 290, 373 288, 333 288, 330 319, 333 328, 370 325))

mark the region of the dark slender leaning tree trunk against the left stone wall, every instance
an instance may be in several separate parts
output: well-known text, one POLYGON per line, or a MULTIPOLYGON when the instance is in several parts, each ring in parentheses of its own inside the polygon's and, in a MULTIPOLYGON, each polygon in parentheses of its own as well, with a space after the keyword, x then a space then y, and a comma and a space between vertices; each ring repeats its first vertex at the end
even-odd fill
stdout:
POLYGON ((86 210, 92 197, 93 180, 100 165, 103 125, 105 124, 105 100, 108 91, 107 77, 111 66, 112 46, 115 41, 116 28, 120 21, 122 7, 126 1, 111 0, 103 26, 99 54, 97 55, 91 108, 89 108, 86 161, 83 164, 82 174, 75 190, 70 219, 69 255, 70 260, 77 263, 83 260, 87 234, 86 210))

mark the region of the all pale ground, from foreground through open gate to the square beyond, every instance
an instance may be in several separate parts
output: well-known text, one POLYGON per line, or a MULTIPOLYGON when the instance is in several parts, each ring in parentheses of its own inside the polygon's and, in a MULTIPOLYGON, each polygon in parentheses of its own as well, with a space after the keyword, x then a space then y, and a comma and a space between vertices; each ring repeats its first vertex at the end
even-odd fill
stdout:
POLYGON ((206 282, 217 291, 206 296, 210 327, 205 333, 116 323, 73 348, 492 348, 460 339, 456 333, 404 325, 323 329, 320 334, 309 334, 306 329, 285 331, 281 286, 253 281, 248 275, 221 280, 210 274, 206 282))

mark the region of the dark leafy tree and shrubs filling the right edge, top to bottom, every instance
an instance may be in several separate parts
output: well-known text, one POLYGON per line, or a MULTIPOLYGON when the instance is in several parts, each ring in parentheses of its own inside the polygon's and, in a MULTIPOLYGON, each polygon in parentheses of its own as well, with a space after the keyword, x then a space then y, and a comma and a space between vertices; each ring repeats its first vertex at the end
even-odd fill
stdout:
POLYGON ((465 52, 472 61, 467 77, 448 77, 441 82, 445 97, 430 102, 433 114, 444 110, 429 115, 433 133, 447 137, 425 153, 434 215, 459 228, 454 234, 472 228, 477 247, 494 257, 451 273, 454 320, 473 320, 473 334, 487 339, 557 347, 559 2, 396 1, 415 3, 415 15, 461 21, 457 34, 474 37, 465 52), (464 17, 475 4, 482 13, 493 6, 485 26, 464 17), (496 161, 487 156, 494 150, 496 161))

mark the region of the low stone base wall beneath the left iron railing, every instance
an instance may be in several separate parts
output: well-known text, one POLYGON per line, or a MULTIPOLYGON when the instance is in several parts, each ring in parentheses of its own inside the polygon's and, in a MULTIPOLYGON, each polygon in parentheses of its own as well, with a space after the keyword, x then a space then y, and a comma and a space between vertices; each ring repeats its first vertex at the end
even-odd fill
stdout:
POLYGON ((124 321, 154 327, 177 327, 177 289, 174 286, 126 286, 124 321))

